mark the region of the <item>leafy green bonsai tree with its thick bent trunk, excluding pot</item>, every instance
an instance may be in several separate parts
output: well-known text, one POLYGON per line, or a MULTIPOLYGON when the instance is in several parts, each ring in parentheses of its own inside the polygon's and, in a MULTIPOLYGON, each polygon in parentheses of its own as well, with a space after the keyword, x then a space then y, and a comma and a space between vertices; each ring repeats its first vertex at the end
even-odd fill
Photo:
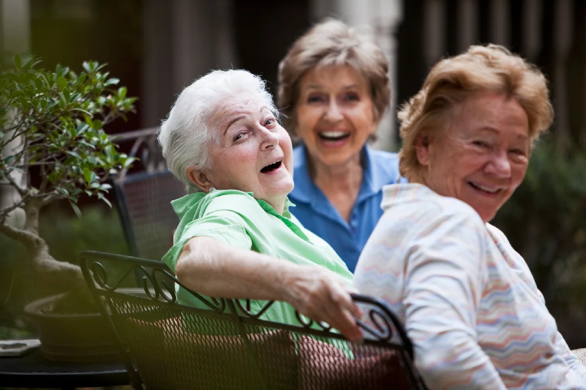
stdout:
POLYGON ((35 274, 76 292, 70 296, 87 298, 79 266, 51 256, 39 235, 39 216, 58 199, 69 201, 80 216, 77 201, 83 194, 111 207, 105 181, 133 159, 118 153, 103 127, 125 120, 136 98, 127 97, 127 88, 116 88, 119 80, 97 62, 84 62, 79 74, 60 65, 48 71, 39 63, 15 56, 0 74, 0 193, 12 188, 18 194, 0 209, 0 233, 26 246, 35 274), (23 175, 27 180, 18 180, 23 175), (8 223, 9 213, 18 209, 23 226, 8 223))

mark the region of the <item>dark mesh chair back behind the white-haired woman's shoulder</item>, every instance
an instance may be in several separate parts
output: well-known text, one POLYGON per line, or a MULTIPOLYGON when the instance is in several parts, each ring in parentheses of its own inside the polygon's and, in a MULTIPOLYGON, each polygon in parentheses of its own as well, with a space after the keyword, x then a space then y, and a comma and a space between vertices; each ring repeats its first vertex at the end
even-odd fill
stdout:
POLYGON ((161 259, 179 223, 171 201, 185 195, 185 185, 165 170, 124 175, 114 179, 113 187, 130 253, 161 259))

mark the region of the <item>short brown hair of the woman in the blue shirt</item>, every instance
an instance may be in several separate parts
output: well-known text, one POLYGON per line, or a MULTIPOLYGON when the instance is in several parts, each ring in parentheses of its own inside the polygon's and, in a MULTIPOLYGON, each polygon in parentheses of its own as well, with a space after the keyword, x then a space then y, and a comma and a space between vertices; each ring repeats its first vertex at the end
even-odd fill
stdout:
POLYGON ((277 106, 284 114, 285 129, 293 130, 296 124, 301 77, 313 68, 331 65, 350 65, 366 78, 375 118, 389 108, 389 61, 383 51, 352 27, 328 18, 299 37, 279 64, 277 106))

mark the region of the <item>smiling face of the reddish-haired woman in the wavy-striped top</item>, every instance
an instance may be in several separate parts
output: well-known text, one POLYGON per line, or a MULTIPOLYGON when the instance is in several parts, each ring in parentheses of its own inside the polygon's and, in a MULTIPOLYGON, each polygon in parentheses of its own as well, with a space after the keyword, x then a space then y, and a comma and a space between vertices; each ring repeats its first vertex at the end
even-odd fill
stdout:
POLYGON ((418 137, 425 184, 468 203, 488 222, 523 181, 528 129, 527 114, 514 98, 472 95, 454 108, 443 132, 418 137))

